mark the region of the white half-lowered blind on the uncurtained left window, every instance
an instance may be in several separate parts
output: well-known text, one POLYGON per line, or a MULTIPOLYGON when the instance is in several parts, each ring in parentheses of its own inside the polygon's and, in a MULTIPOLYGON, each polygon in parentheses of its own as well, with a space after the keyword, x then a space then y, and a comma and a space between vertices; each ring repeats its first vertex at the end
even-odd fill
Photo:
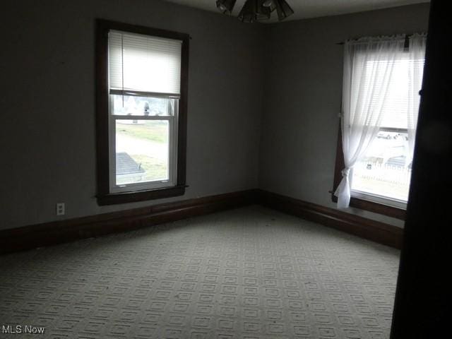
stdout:
POLYGON ((182 41, 109 32, 109 87, 180 95, 182 41))

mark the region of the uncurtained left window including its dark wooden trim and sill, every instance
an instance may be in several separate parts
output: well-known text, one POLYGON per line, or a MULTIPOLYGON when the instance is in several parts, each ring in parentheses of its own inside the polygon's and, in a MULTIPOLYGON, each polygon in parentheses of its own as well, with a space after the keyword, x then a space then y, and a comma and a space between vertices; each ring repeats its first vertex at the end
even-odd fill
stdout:
POLYGON ((97 201, 184 194, 189 36, 97 20, 97 201))

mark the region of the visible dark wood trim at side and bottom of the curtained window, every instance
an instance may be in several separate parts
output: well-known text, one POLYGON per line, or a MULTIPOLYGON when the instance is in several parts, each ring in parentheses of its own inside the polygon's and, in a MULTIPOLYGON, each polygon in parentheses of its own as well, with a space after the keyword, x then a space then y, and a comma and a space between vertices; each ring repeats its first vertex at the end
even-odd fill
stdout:
MULTIPOLYGON (((335 190, 342 180, 341 171, 344 169, 344 154, 342 149, 342 132, 340 130, 339 122, 339 132, 338 132, 338 146, 336 148, 336 161, 334 169, 334 183, 333 191, 331 191, 331 200, 335 203, 338 202, 338 198, 334 195, 335 190)), ((350 207, 359 208, 362 210, 369 210, 370 212, 379 213, 383 215, 388 215, 392 218, 397 218, 400 220, 405 220, 405 210, 403 208, 397 208, 393 206, 383 205, 382 203, 376 203, 374 201, 368 201, 361 198, 355 198, 352 196, 350 198, 350 207)))

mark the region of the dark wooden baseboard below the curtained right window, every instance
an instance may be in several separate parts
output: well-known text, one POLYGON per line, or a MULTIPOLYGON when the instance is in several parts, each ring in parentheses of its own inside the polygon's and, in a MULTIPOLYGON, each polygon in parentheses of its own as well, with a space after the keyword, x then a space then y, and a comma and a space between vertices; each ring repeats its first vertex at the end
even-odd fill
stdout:
POLYGON ((403 229, 400 227, 268 191, 258 190, 257 196, 257 202, 262 206, 318 222, 321 225, 355 234, 358 237, 395 247, 396 249, 401 249, 402 247, 403 229))

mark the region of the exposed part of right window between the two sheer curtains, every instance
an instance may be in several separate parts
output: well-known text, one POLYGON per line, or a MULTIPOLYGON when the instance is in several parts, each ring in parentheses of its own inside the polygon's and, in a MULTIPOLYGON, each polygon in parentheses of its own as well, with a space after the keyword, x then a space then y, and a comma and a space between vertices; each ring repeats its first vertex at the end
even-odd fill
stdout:
POLYGON ((412 162, 408 143, 412 62, 423 64, 424 61, 410 60, 407 56, 396 62, 383 104, 383 121, 379 133, 352 169, 352 196, 406 208, 412 162))

